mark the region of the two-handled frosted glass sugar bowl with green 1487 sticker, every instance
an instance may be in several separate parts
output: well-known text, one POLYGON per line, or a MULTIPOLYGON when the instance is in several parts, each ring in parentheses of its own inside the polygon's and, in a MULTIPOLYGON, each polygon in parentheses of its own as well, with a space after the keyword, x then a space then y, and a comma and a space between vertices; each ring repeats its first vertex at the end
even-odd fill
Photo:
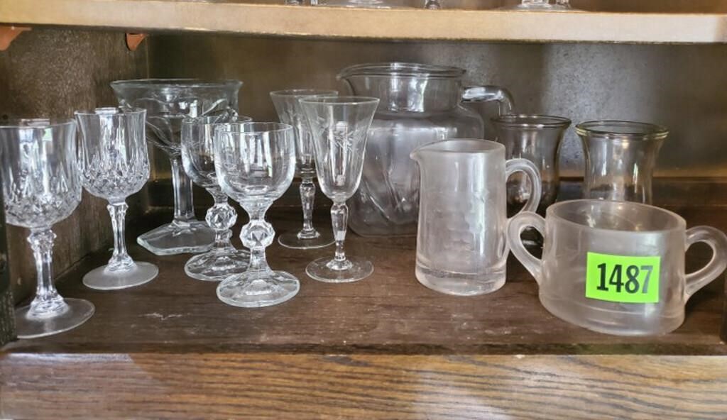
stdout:
POLYGON ((574 200, 510 219, 507 241, 539 285, 550 313, 606 334, 665 334, 684 320, 686 301, 727 267, 727 236, 714 227, 686 229, 678 214, 641 203, 574 200), (542 259, 521 233, 545 238, 542 259), (704 242, 710 262, 686 274, 686 250, 704 242))

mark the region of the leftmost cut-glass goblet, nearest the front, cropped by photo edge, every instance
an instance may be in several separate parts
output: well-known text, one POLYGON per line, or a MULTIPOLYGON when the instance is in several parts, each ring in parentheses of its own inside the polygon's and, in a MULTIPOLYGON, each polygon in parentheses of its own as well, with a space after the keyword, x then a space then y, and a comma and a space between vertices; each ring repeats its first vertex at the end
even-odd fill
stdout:
POLYGON ((36 296, 15 310, 20 339, 58 334, 86 322, 95 307, 84 299, 63 299, 53 285, 52 225, 81 202, 76 166, 76 122, 27 119, 0 126, 0 177, 10 225, 31 230, 28 242, 38 272, 36 296))

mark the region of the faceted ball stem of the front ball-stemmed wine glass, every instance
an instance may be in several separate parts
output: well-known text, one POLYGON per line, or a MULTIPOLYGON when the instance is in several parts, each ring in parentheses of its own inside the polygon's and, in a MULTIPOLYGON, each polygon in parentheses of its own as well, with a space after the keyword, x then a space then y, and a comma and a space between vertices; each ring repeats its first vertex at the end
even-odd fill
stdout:
POLYGON ((250 222, 242 227, 240 239, 242 244, 250 249, 250 264, 248 272, 271 272, 268 259, 265 257, 265 248, 273 243, 275 230, 273 225, 265 221, 265 211, 272 204, 269 202, 252 203, 245 210, 250 222))

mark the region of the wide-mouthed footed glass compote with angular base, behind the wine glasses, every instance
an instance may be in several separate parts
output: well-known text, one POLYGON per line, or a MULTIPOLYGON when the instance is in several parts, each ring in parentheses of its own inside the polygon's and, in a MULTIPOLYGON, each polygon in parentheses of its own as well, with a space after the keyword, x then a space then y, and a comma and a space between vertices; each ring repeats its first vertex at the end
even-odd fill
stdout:
POLYGON ((206 252, 214 231, 194 216, 192 182, 182 169, 180 134, 186 117, 237 110, 241 81, 201 81, 193 78, 122 80, 111 88, 124 107, 145 108, 147 140, 169 156, 174 187, 174 219, 137 238, 156 255, 206 252))

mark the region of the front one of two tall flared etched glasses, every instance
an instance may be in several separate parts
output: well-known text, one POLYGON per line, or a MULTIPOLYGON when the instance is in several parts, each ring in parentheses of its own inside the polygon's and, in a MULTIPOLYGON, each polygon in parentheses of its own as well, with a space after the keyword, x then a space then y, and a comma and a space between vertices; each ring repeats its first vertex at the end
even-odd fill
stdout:
POLYGON ((366 137, 379 100, 374 97, 308 97, 300 100, 316 149, 321 190, 333 201, 331 219, 336 254, 308 264, 311 278, 330 283, 361 280, 374 272, 366 259, 346 257, 346 200, 358 189, 364 166, 366 137))

